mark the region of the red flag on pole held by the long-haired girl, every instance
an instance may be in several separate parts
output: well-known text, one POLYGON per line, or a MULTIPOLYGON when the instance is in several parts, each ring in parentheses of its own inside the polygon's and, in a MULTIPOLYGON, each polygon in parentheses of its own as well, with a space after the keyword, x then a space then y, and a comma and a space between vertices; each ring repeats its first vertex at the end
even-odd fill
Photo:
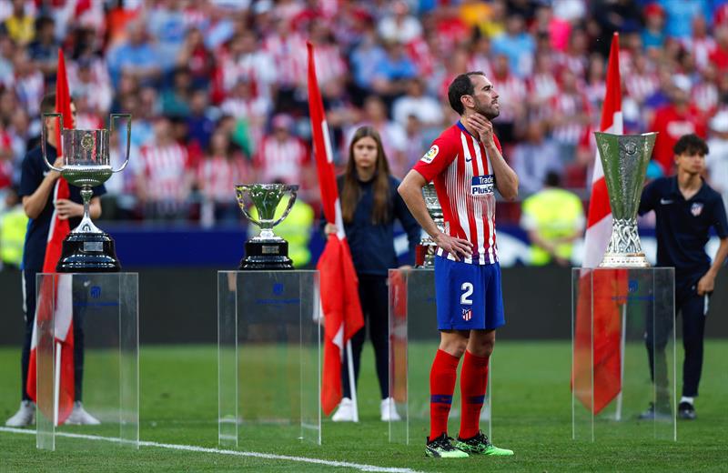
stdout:
POLYGON ((313 45, 308 47, 308 112, 311 116, 313 150, 319 175, 321 202, 327 222, 335 224, 339 233, 331 235, 317 268, 320 272, 321 309, 324 314, 324 368, 321 379, 321 407, 324 414, 334 410, 341 400, 341 360, 349 338, 364 327, 359 303, 359 281, 351 260, 349 244, 341 219, 339 190, 334 176, 329 142, 329 126, 324 116, 313 45))

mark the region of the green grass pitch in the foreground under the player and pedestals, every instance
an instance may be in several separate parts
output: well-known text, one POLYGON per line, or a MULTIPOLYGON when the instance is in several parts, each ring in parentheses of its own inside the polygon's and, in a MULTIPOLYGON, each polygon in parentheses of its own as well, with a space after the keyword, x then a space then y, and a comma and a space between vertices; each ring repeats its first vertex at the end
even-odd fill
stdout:
MULTIPOLYGON (((431 346, 410 347, 411 379, 427 379, 431 346)), ((679 364, 682 350, 677 354, 679 364)), ((18 404, 20 353, 0 348, 0 418, 18 404)), ((239 450, 347 461, 418 471, 725 471, 728 445, 728 341, 706 343, 698 420, 678 423, 678 441, 604 436, 596 443, 571 440, 571 344, 499 342, 493 357, 493 438, 515 450, 512 458, 425 458, 425 422, 413 422, 410 446, 390 444, 379 421, 379 396, 369 345, 363 354, 358 425, 323 422, 323 445, 252 428, 239 450)), ((217 448, 217 349, 214 346, 141 347, 142 440, 217 448)), ((678 370, 680 373, 680 370, 678 370)), ((410 384, 410 389, 415 386, 410 384)), ((426 390, 427 386, 421 387, 426 390)), ((630 422, 629 420, 627 422, 630 422)), ((457 421, 451 423, 455 428, 457 421)), ((93 428, 76 431, 99 434, 93 428)), ((457 432, 451 432, 452 435, 457 432)), ((282 459, 233 457, 64 438, 56 452, 35 449, 35 436, 0 432, 0 471, 323 471, 334 468, 282 459), (62 442, 62 444, 61 444, 62 442), (103 448, 102 448, 103 447, 103 448)), ((339 468, 349 469, 353 468, 339 468)))

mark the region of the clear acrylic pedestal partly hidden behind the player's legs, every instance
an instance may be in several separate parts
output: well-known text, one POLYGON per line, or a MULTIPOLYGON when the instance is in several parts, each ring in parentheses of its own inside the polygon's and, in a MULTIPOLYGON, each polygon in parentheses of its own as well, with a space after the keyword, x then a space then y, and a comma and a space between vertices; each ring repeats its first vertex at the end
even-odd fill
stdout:
MULTIPOLYGON (((409 445, 412 439, 421 442, 430 435, 430 367, 440 345, 437 325, 434 269, 389 269, 389 396, 401 418, 389 422, 390 442, 409 445)), ((480 428, 490 439, 492 376, 491 357, 480 414, 480 428)), ((460 428, 460 383, 449 424, 449 432, 460 428)))

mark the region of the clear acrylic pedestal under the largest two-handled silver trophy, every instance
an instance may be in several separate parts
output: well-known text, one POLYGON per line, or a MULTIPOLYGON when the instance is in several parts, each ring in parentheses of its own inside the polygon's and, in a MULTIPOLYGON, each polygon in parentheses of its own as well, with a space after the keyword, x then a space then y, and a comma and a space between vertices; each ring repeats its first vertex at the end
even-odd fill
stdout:
POLYGON ((138 448, 137 274, 42 273, 36 285, 36 447, 138 448))

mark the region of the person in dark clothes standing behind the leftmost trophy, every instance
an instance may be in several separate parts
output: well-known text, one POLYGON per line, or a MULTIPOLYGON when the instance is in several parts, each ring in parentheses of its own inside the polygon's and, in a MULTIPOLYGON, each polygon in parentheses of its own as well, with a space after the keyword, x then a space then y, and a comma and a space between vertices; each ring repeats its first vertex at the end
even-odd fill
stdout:
MULTIPOLYGON (((71 110, 76 115, 76 106, 71 103, 71 110)), ((56 111, 56 95, 43 97, 40 104, 41 114, 54 113, 56 111)), ((48 161, 54 166, 63 166, 63 157, 56 157, 56 118, 48 118, 45 121, 47 126, 46 153, 48 161)), ((12 418, 7 419, 5 425, 8 427, 25 427, 33 423, 35 418, 35 405, 26 391, 28 364, 30 362, 30 344, 33 337, 33 326, 35 324, 35 275, 43 271, 45 260, 45 246, 48 240, 48 233, 53 220, 54 209, 62 220, 69 220, 71 228, 75 228, 81 222, 84 215, 84 206, 81 204, 80 187, 69 186, 70 197, 68 199, 57 199, 54 201, 56 181, 60 176, 45 166, 43 152, 40 144, 28 151, 22 165, 20 177, 20 188, 18 196, 22 198, 25 215, 30 218, 30 223, 25 234, 25 247, 23 250, 23 308, 25 311, 25 340, 23 343, 23 354, 21 357, 21 394, 22 401, 20 408, 12 418), (55 207, 55 208, 54 208, 55 207)), ((94 196, 91 198, 89 214, 91 218, 101 216, 100 196, 106 193, 106 187, 94 187, 94 196)), ((81 404, 80 394, 83 377, 83 349, 84 334, 82 324, 74 324, 74 364, 75 364, 75 392, 76 402, 73 411, 66 423, 70 424, 98 424, 98 420, 88 414, 81 404)))

